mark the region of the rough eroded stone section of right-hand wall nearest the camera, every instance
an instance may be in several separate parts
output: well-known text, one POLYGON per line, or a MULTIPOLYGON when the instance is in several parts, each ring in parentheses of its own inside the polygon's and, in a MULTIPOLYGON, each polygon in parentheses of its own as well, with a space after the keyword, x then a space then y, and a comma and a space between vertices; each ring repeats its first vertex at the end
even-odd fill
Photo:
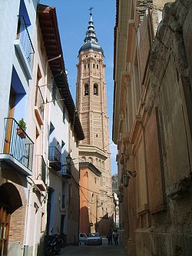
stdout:
POLYGON ((191 16, 190 1, 165 5, 148 62, 144 111, 149 116, 145 135, 151 150, 147 161, 151 228, 137 229, 137 255, 190 256, 192 251, 191 16), (158 134, 153 135, 150 120, 155 109, 158 134))

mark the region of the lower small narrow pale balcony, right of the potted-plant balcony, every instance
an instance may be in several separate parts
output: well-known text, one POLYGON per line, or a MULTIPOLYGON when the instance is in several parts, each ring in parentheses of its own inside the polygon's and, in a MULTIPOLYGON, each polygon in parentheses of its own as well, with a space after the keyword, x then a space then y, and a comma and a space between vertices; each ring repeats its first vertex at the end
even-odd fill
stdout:
POLYGON ((41 191, 46 191, 46 164, 42 155, 36 155, 36 173, 37 178, 35 180, 35 185, 41 191))

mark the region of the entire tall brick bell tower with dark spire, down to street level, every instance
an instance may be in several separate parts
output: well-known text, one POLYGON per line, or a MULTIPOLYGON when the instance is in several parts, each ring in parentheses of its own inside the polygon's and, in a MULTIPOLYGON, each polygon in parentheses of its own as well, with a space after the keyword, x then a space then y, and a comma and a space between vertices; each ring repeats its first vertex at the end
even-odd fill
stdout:
MULTIPOLYGON (((84 184, 81 166, 91 163, 100 172, 100 175, 94 177, 94 181, 91 181, 92 175, 89 175, 90 178, 86 184, 90 190, 87 199, 91 202, 95 201, 96 204, 95 222, 94 217, 91 222, 96 227, 95 231, 100 231, 101 234, 107 232, 111 226, 113 214, 105 66, 104 51, 98 44, 92 13, 90 13, 84 45, 78 52, 76 106, 85 137, 79 144, 81 184, 84 184), (91 185, 91 182, 95 183, 97 181, 95 178, 98 179, 98 193, 91 193, 91 188, 95 185, 91 185)), ((80 201, 81 199, 83 201, 80 195, 80 201)))

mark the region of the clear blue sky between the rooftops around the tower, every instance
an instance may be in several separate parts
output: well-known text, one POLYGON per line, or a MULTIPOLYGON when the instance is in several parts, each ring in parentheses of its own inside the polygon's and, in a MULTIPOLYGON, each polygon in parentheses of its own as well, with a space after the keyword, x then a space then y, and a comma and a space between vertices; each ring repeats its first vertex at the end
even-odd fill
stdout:
MULTIPOLYGON (((109 138, 112 142, 113 115, 113 62, 114 62, 114 23, 116 0, 41 0, 41 4, 55 6, 61 45, 68 70, 68 84, 75 103, 75 86, 77 82, 78 51, 83 45, 88 28, 89 12, 92 6, 93 21, 98 42, 104 49, 105 79, 107 82, 109 138)), ((111 143, 111 174, 117 172, 116 145, 111 143)))

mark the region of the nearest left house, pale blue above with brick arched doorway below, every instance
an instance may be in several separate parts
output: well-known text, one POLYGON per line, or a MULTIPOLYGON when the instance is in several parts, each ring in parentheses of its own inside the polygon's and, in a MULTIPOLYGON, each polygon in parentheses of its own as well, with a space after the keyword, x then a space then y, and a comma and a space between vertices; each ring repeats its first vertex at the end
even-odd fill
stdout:
MULTIPOLYGON (((0 43, 0 251, 3 255, 35 255, 42 250, 44 240, 45 155, 35 151, 35 126, 39 130, 35 115, 35 109, 38 111, 35 63, 39 62, 35 41, 37 5, 38 1, 23 0, 3 1, 1 5, 1 30, 5 35, 0 43), (32 229, 31 218, 35 221, 32 229)), ((39 137, 42 138, 41 131, 39 137)))

